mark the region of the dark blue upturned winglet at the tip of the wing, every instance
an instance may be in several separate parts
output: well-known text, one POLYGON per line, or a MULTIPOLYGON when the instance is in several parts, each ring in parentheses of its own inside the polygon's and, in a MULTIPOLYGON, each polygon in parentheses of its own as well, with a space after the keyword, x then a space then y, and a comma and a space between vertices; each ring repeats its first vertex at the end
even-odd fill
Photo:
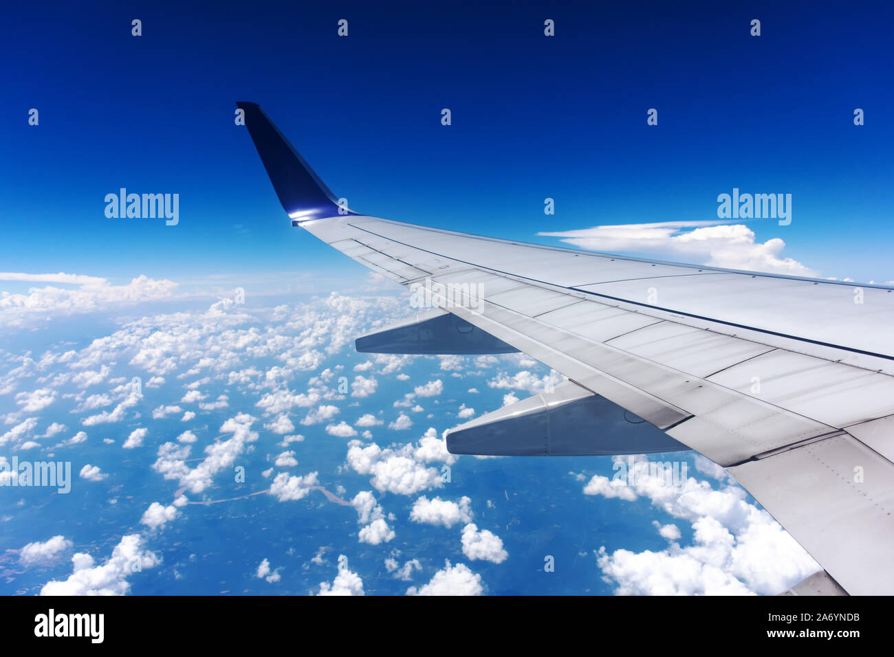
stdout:
POLYGON ((283 209, 292 223, 335 215, 356 215, 344 206, 283 136, 257 103, 236 103, 245 113, 245 125, 257 155, 267 170, 283 209), (340 211, 341 210, 341 211, 340 211))

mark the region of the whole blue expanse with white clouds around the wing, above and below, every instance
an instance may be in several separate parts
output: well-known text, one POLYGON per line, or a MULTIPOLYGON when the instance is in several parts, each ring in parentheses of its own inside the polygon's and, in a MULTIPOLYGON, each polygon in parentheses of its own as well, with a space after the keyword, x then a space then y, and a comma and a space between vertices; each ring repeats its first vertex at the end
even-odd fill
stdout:
POLYGON ((772 594, 817 568, 694 452, 667 457, 689 466, 685 493, 613 487, 608 458, 448 455, 445 429, 558 374, 523 355, 357 354, 354 338, 413 312, 406 295, 290 227, 235 101, 262 105, 371 215, 890 282, 887 5, 5 13, 0 457, 76 466, 72 495, 27 491, 4 505, 5 593, 49 581, 89 592, 81 554, 114 566, 101 590, 144 594, 319 593, 358 579, 368 593, 403 593, 436 589, 441 575, 465 593, 772 594), (752 19, 762 36, 749 35, 752 19), (646 124, 653 107, 657 126, 646 124), (179 194, 180 222, 107 218, 105 195, 120 188, 179 194), (733 188, 791 194, 792 222, 718 222, 717 196, 733 188), (341 375, 351 392, 336 392, 341 375), (232 462, 215 464, 215 450, 232 462), (242 463, 249 479, 236 484, 230 467, 242 463), (441 486, 448 463, 454 480, 441 486), (308 486, 311 474, 341 502, 308 486), (364 516, 366 493, 381 508, 364 516), (422 495, 448 501, 441 513, 468 495, 477 529, 413 518, 422 495), (376 513, 375 531, 392 538, 369 540, 376 513), (239 540, 220 550, 233 526, 239 540), (159 560, 131 577, 115 554, 138 548, 159 560), (549 554, 554 580, 540 578, 549 554), (411 577, 398 577, 408 564, 411 577))

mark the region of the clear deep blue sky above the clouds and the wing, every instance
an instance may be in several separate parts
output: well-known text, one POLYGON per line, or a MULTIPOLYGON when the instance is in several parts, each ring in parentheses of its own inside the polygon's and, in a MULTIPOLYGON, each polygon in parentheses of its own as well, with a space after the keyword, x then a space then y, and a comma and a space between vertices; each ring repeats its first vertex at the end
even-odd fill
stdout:
POLYGON ((0 270, 360 272, 289 228, 232 121, 249 100, 368 214, 557 243, 536 232, 713 219, 721 192, 779 191, 793 223, 752 223, 759 240, 894 279, 890 4, 315 5, 5 7, 0 270), (180 225, 106 219, 120 187, 179 193, 180 225))

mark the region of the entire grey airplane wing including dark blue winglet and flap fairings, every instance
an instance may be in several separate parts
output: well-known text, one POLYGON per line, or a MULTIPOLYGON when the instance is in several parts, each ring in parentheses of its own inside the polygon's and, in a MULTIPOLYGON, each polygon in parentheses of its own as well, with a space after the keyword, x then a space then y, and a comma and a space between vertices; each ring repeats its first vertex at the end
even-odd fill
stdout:
POLYGON ((258 105, 237 105, 292 225, 430 306, 358 350, 518 350, 568 377, 451 430, 450 451, 692 449, 726 467, 825 569, 789 593, 894 594, 890 288, 362 215, 258 105))

